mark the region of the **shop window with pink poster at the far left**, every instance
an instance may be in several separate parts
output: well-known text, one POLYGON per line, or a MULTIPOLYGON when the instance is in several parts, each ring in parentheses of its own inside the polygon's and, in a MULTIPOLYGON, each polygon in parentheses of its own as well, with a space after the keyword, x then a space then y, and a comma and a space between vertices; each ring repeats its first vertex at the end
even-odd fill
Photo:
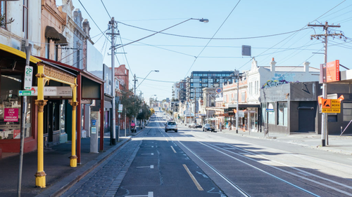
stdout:
MULTIPOLYGON (((0 140, 20 139, 21 104, 22 97, 18 90, 22 90, 22 76, 2 74, 0 95, 0 140)), ((27 114, 25 119, 25 137, 32 136, 31 130, 31 102, 27 97, 27 114)))

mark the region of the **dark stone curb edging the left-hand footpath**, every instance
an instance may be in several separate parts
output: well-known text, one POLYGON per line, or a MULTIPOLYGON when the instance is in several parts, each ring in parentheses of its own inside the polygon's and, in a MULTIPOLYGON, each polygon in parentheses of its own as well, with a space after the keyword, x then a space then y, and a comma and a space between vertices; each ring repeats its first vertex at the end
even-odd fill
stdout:
POLYGON ((50 186, 48 189, 45 189, 41 193, 37 195, 37 197, 56 197, 56 196, 61 196, 65 191, 70 189, 73 184, 77 183, 85 177, 89 172, 94 170, 99 164, 103 163, 111 154, 115 153, 115 151, 118 151, 120 147, 125 145, 127 142, 131 140, 131 137, 128 136, 128 139, 123 140, 121 143, 117 144, 115 147, 112 147, 111 149, 108 149, 106 152, 103 152, 100 156, 96 157, 94 160, 89 161, 86 163, 82 168, 76 170, 75 172, 71 173, 67 177, 64 177, 61 179, 61 181, 56 182, 53 186, 50 186))

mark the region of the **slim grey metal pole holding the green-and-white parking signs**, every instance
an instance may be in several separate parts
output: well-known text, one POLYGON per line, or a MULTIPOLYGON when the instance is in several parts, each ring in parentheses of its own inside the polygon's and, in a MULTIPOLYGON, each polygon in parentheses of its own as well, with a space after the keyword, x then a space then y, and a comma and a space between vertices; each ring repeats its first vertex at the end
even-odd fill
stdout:
MULTIPOLYGON (((25 66, 30 65, 30 52, 32 46, 25 46, 25 66)), ((21 130, 20 130, 20 166, 18 169, 18 187, 17 187, 17 196, 21 196, 21 184, 22 184, 22 168, 23 168, 23 146, 25 144, 25 118, 27 114, 27 96, 23 96, 22 104, 22 114, 21 114, 21 130)))

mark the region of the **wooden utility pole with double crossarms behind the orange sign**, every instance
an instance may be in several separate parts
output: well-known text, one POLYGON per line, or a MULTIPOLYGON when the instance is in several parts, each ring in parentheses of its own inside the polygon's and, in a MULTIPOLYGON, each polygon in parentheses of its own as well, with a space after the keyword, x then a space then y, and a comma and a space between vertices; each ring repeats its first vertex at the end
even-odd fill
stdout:
MULTIPOLYGON (((325 53, 324 53, 324 64, 325 67, 327 65, 327 37, 328 36, 343 36, 343 34, 329 34, 327 31, 327 28, 329 27, 341 27, 340 25, 329 25, 327 22, 325 22, 325 25, 310 25, 308 24, 308 27, 323 27, 325 30, 325 34, 315 34, 315 35, 310 35, 310 39, 317 38, 319 39, 320 37, 324 38, 324 47, 325 47, 325 53)), ((326 81, 322 81, 322 98, 326 99, 327 98, 327 83, 326 81)), ((322 113, 322 147, 325 147, 325 145, 329 145, 328 141, 328 135, 329 131, 327 129, 327 113, 322 113), (326 138, 326 142, 325 142, 326 138), (326 143, 326 144, 325 144, 326 143)))

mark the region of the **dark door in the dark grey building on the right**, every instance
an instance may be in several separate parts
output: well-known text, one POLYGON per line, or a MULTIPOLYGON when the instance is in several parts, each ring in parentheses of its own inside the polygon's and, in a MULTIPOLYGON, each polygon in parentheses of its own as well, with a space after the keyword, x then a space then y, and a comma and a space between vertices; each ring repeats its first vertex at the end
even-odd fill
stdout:
POLYGON ((315 102, 301 101, 298 107, 298 132, 315 131, 315 102))

